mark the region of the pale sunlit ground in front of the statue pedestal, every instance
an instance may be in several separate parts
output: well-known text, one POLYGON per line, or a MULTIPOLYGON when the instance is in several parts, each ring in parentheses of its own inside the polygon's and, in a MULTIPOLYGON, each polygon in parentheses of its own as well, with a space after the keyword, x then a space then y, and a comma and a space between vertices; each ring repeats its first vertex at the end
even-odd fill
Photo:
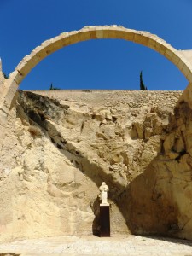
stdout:
POLYGON ((0 255, 186 255, 192 256, 192 241, 147 236, 59 236, 0 242, 0 255), (3 253, 3 254, 1 254, 3 253))

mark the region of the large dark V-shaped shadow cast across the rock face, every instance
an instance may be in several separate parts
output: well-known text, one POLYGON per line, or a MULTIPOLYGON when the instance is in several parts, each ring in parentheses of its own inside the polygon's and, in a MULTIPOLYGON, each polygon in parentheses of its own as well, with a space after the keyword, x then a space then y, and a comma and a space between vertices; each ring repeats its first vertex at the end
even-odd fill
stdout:
MULTIPOLYGON (((30 101, 36 102, 38 101, 36 97, 39 96, 28 92, 26 97, 29 97, 30 101)), ((102 181, 108 183, 110 188, 108 198, 119 207, 119 211, 122 212, 127 227, 132 234, 192 238, 190 234, 187 236, 184 233, 185 226, 189 222, 190 216, 192 217, 192 213, 190 211, 187 215, 187 212, 183 212, 184 210, 181 208, 183 200, 186 200, 187 205, 191 204, 191 197, 185 197, 182 190, 185 180, 187 182, 185 189, 187 185, 192 187, 192 159, 188 150, 189 138, 192 136, 192 130, 191 135, 189 133, 190 125, 192 127, 192 111, 187 103, 181 102, 175 108, 166 136, 164 135, 162 138, 160 154, 127 187, 114 182, 113 176, 105 172, 102 166, 90 162, 84 155, 67 148, 67 142, 58 147, 56 140, 64 142, 65 139, 61 137, 59 131, 56 131, 54 125, 50 127, 51 124, 44 118, 44 113, 32 111, 29 105, 28 108, 25 108, 25 112, 30 119, 47 131, 50 141, 55 143, 55 147, 62 154, 69 157, 66 150, 70 154, 75 154, 80 163, 79 170, 96 183, 97 187, 101 185, 102 181), (54 138, 49 134, 49 130, 52 133, 54 130, 54 138), (98 173, 99 175, 97 175, 98 173), (181 196, 179 199, 177 198, 177 193, 180 192, 183 193, 182 199, 181 196)), ((189 195, 192 195, 192 190, 189 195)), ((98 199, 94 202, 92 210, 96 217, 92 230, 93 234, 98 235, 98 199)))

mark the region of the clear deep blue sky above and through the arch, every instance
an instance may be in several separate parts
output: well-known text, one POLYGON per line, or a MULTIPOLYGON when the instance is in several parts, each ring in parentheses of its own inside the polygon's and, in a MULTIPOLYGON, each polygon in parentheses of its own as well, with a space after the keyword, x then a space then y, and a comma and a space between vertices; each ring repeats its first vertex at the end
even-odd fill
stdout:
MULTIPOLYGON (((176 49, 192 49, 192 0, 0 0, 0 56, 14 71, 32 49, 83 26, 122 25, 148 31, 176 49)), ((183 90, 188 81, 172 62, 140 44, 100 39, 73 44, 34 67, 20 90, 183 90)))

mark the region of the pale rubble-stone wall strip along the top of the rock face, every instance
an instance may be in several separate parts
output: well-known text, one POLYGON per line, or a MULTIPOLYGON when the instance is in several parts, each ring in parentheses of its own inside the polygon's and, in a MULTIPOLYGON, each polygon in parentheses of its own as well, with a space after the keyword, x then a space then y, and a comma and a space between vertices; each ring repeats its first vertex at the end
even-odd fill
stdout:
POLYGON ((111 108, 153 108, 162 105, 174 108, 182 90, 32 90, 33 93, 60 102, 86 102, 111 108))

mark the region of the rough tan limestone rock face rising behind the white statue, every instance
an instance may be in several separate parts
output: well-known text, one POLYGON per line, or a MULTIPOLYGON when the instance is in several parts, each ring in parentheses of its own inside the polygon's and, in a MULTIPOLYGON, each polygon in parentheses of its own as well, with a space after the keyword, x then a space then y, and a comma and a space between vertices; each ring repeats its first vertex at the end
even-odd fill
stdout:
POLYGON ((0 239, 97 233, 102 181, 112 233, 192 238, 186 103, 173 113, 123 92, 72 95, 17 93, 1 145, 0 239))

